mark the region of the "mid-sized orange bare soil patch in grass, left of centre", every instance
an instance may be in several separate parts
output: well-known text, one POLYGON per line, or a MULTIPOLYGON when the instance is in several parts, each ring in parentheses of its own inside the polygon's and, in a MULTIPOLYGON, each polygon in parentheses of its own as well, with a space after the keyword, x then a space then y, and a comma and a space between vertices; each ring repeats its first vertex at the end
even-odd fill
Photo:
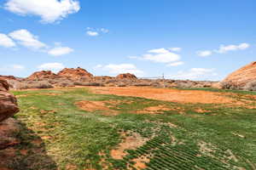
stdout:
POLYGON ((81 110, 84 111, 103 111, 102 114, 106 116, 113 116, 117 115, 118 112, 110 109, 111 105, 109 105, 111 102, 109 101, 79 101, 76 102, 75 105, 77 105, 81 110))

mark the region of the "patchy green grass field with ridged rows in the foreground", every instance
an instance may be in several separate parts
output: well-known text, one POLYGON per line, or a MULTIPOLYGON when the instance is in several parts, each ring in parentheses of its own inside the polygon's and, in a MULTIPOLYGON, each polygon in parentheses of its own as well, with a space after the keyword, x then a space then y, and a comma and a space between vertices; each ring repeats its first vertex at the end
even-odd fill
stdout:
POLYGON ((147 170, 256 169, 256 109, 91 94, 87 88, 13 93, 20 95, 20 113, 15 118, 23 130, 17 146, 20 155, 10 168, 137 169, 135 160, 144 156, 147 170), (81 100, 117 100, 112 109, 119 114, 82 111, 74 105, 81 100), (135 114, 156 105, 179 108, 183 114, 175 110, 135 114), (124 140, 122 133, 140 135, 146 142, 114 159, 111 150, 124 140))

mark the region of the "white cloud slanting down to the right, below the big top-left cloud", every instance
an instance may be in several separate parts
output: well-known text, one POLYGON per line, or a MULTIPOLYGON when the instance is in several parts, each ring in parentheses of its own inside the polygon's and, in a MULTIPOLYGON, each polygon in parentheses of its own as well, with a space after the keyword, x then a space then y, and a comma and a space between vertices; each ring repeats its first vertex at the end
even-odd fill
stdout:
POLYGON ((40 49, 40 48, 47 48, 47 46, 38 40, 38 37, 32 35, 31 32, 27 30, 17 30, 9 33, 9 37, 12 37, 20 45, 25 46, 26 48, 32 49, 40 49))

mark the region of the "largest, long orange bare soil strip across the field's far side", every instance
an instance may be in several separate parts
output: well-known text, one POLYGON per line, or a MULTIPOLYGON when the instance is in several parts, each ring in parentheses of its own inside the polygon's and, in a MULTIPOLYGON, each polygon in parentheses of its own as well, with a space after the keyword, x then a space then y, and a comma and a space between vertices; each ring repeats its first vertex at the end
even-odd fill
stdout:
POLYGON ((96 94, 115 94, 120 96, 142 97, 177 103, 201 104, 232 104, 236 99, 222 93, 200 90, 180 90, 168 88, 141 88, 141 87, 90 87, 96 94))

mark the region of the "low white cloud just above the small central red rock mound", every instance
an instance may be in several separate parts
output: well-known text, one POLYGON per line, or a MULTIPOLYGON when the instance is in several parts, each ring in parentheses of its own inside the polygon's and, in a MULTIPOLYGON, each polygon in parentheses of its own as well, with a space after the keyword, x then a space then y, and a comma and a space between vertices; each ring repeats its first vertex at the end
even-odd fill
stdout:
POLYGON ((95 69, 102 69, 102 71, 108 71, 110 74, 117 75, 121 73, 131 73, 137 76, 143 76, 144 72, 137 69, 136 65, 132 64, 109 64, 109 65, 96 65, 95 69))

